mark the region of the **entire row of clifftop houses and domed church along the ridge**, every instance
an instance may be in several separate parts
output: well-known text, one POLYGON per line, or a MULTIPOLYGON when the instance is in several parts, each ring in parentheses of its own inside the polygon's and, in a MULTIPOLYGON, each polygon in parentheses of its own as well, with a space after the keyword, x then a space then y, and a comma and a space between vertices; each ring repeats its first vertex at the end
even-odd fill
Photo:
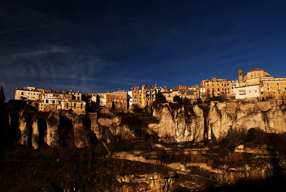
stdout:
MULTIPOLYGON (((1 87, 2 88, 2 87, 1 87)), ((181 86, 173 89, 153 85, 134 86, 130 91, 115 90, 106 93, 81 93, 77 91, 58 91, 37 89, 35 87, 16 88, 15 99, 24 100, 28 104, 37 105, 39 111, 57 111, 58 109, 85 112, 92 105, 128 109, 134 106, 144 107, 155 101, 160 91, 167 102, 173 102, 175 96, 197 102, 213 96, 235 97, 244 99, 251 97, 281 99, 286 93, 286 78, 275 78, 268 72, 254 68, 243 75, 238 70, 238 80, 212 78, 202 80, 200 85, 181 86)), ((1 98, 0 98, 1 99, 1 98)))

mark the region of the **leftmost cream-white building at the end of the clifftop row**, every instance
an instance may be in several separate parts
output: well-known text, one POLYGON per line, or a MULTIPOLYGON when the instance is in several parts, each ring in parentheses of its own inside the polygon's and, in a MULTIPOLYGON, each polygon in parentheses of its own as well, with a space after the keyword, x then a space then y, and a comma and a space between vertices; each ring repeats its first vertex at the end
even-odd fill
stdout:
POLYGON ((17 88, 15 92, 15 99, 17 100, 40 100, 42 89, 36 87, 17 88))

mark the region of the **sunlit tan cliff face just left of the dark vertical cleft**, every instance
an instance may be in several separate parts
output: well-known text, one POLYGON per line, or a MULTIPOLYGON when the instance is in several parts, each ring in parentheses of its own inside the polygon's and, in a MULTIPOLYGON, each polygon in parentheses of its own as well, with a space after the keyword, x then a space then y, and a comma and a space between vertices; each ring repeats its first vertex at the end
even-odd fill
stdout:
POLYGON ((195 105, 192 110, 174 108, 173 103, 158 104, 154 108, 154 116, 159 123, 149 124, 158 136, 174 136, 179 141, 200 141, 204 136, 204 114, 202 109, 195 105))

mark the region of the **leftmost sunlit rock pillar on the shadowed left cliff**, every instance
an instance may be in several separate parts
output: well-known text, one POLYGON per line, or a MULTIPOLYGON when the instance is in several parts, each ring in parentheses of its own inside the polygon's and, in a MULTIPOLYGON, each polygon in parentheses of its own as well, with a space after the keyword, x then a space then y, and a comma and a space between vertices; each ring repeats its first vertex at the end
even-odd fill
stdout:
POLYGON ((29 114, 25 111, 21 112, 19 117, 19 129, 21 130, 20 143, 26 147, 31 145, 32 127, 30 124, 29 114))

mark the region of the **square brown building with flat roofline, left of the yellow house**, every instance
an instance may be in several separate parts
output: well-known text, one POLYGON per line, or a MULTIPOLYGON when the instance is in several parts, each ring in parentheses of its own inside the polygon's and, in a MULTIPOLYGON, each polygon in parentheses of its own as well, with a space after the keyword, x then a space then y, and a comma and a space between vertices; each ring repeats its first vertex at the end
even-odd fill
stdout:
POLYGON ((127 100, 127 91, 118 90, 118 91, 106 91, 106 107, 112 107, 112 101, 114 101, 116 108, 127 109, 128 100, 127 100))

